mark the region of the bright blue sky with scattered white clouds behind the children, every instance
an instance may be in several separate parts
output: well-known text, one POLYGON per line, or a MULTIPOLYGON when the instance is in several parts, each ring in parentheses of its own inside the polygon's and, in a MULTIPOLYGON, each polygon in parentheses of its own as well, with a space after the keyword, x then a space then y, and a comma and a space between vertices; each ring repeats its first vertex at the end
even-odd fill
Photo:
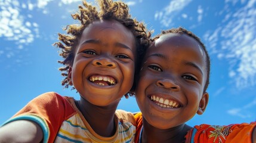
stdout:
MULTIPOLYGON (((198 35, 211 57, 209 104, 187 122, 229 125, 256 120, 256 0, 125 1, 133 17, 155 34, 185 27, 198 35)), ((80 0, 0 1, 0 124, 36 96, 49 91, 78 99, 60 81, 57 33, 76 23, 80 0)), ((139 111, 135 98, 119 107, 139 111)))

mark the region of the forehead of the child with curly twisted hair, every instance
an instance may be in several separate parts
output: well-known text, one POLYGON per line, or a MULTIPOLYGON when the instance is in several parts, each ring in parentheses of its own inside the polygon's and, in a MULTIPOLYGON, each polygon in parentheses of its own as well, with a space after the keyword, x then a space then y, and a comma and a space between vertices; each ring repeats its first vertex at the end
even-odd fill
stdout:
POLYGON ((116 20, 93 21, 82 32, 78 40, 78 47, 87 41, 97 41, 102 46, 125 45, 132 51, 135 51, 136 48, 134 34, 116 20))

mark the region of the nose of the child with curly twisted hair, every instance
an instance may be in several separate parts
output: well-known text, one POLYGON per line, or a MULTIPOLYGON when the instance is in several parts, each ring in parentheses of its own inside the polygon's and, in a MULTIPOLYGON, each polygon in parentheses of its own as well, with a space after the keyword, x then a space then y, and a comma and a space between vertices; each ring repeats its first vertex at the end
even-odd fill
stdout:
POLYGON ((92 64, 94 66, 100 66, 100 67, 110 67, 115 68, 116 67, 116 61, 112 60, 108 57, 99 57, 92 61, 92 64))

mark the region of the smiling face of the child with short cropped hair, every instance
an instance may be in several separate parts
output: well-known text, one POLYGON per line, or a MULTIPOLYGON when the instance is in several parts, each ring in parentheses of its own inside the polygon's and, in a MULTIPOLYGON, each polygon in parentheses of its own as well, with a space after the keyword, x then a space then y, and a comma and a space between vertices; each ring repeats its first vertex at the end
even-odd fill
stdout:
POLYGON ((169 129, 202 114, 208 102, 203 92, 206 56, 195 39, 168 33, 152 43, 144 58, 136 100, 144 119, 169 129))

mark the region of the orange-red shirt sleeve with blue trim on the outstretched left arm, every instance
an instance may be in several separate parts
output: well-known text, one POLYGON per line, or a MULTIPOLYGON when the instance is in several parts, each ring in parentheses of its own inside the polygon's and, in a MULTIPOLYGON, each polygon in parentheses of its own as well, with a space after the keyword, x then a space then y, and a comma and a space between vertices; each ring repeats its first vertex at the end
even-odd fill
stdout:
POLYGON ((30 101, 4 125, 16 120, 30 120, 38 123, 43 130, 43 142, 53 142, 63 120, 66 119, 66 110, 73 109, 68 106, 64 97, 55 92, 47 92, 30 101))

